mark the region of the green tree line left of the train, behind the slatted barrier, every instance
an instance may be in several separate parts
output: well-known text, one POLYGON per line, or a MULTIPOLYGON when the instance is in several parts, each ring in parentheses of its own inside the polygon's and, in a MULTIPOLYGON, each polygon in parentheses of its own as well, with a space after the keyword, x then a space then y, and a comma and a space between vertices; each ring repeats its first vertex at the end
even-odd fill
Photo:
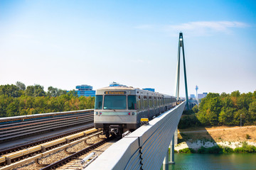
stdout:
POLYGON ((20 81, 0 86, 0 117, 32 115, 60 111, 78 111, 94 108, 95 97, 80 96, 75 90, 67 91, 35 84, 27 86, 20 81))

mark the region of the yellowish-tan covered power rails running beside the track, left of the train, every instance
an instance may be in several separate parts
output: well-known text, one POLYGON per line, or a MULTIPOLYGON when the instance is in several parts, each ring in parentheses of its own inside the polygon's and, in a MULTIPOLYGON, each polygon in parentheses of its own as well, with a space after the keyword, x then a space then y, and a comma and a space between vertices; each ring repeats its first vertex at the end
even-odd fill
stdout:
POLYGON ((90 130, 78 132, 74 135, 69 135, 68 137, 62 137, 58 140, 22 149, 18 152, 5 154, 0 157, 0 164, 2 165, 0 169, 12 169, 21 164, 25 164, 26 162, 34 161, 38 163, 38 159, 53 154, 54 152, 58 152, 61 149, 64 149, 65 154, 72 154, 72 152, 67 150, 68 148, 73 147, 80 142, 87 142, 87 140, 90 140, 92 137, 100 135, 101 133, 102 132, 92 128, 90 130))

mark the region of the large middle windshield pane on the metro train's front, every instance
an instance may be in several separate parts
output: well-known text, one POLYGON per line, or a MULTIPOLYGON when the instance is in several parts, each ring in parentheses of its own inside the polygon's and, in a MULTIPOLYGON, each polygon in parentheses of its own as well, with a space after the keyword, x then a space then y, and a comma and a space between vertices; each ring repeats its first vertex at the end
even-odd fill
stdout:
POLYGON ((125 95, 105 95, 104 108, 107 109, 126 109, 126 96, 125 95))

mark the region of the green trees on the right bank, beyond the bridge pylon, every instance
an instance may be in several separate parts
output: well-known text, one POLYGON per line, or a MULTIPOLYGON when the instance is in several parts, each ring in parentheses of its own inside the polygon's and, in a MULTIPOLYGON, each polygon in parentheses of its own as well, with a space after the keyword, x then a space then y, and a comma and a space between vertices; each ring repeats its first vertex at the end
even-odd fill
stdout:
POLYGON ((256 123, 256 91, 240 94, 209 93, 201 99, 198 106, 185 111, 181 117, 179 128, 191 126, 217 125, 255 125, 256 123))

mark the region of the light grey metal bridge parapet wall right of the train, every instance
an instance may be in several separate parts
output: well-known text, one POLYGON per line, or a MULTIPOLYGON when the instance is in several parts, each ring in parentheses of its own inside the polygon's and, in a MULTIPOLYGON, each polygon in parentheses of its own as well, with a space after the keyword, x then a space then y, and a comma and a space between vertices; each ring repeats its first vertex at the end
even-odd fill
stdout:
POLYGON ((160 169, 186 101, 109 147, 86 169, 160 169))

